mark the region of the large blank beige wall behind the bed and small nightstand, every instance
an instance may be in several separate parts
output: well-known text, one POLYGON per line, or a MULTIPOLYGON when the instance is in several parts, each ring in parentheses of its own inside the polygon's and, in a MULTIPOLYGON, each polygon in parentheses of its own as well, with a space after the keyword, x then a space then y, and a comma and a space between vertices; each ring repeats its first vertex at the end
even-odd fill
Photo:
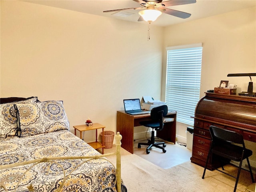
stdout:
POLYGON ((146 23, 1 0, 0 97, 63 100, 72 132, 88 117, 115 132, 124 98, 160 99, 163 30, 150 34, 146 23))

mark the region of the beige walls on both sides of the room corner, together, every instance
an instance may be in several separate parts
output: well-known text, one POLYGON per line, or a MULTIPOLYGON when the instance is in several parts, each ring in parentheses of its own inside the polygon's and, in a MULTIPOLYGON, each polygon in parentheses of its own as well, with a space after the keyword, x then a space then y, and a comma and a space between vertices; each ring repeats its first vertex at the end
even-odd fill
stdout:
MULTIPOLYGON (((256 70, 255 7, 166 28, 152 24, 147 41, 141 22, 21 1, 0 5, 0 96, 63 100, 72 131, 88 117, 115 131, 124 98, 164 100, 168 46, 204 44, 201 97, 220 80, 245 91, 248 77, 227 74, 256 70)), ((178 138, 186 140, 186 126, 177 124, 178 138)), ((86 141, 93 135, 86 133, 86 141)))

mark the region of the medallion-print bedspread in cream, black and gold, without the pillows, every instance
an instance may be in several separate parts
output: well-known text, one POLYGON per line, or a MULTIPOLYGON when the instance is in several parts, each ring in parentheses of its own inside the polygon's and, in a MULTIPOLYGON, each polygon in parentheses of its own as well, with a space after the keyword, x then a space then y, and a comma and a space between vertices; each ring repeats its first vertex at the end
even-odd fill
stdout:
MULTIPOLYGON (((10 136, 0 138, 0 164, 12 164, 43 157, 56 156, 93 156, 98 155, 96 150, 86 142, 74 136, 68 130, 59 130, 36 134, 27 137, 10 136)), ((65 192, 115 192, 116 170, 105 159, 55 160, 30 165, 18 166, 0 170, 0 182, 6 183, 9 192, 55 192, 62 184, 66 172, 68 179, 60 191, 65 192), (57 162, 61 165, 59 166, 57 162), (76 168, 82 162, 86 162, 76 168), (22 173, 27 171, 22 179, 22 173), (19 180, 21 179, 20 183, 19 180), (31 186, 32 184, 32 186, 31 186), (32 187, 32 190, 28 189, 32 187)), ((4 189, 0 188, 0 192, 4 189)))

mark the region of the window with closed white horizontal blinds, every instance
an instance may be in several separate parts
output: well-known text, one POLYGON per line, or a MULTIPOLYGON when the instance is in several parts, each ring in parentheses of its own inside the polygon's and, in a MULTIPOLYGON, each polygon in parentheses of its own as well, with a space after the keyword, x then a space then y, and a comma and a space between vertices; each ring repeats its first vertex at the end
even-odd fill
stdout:
POLYGON ((194 125, 191 116, 200 98, 202 43, 166 50, 166 104, 177 111, 178 122, 194 125))

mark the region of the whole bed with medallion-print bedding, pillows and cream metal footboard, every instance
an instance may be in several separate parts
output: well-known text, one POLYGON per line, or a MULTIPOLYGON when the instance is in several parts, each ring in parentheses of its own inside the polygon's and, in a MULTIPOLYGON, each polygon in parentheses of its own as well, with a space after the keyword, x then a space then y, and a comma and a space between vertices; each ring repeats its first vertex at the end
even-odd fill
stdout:
POLYGON ((116 153, 102 155, 69 131, 61 101, 1 98, 0 192, 126 192, 121 138, 116 153))

